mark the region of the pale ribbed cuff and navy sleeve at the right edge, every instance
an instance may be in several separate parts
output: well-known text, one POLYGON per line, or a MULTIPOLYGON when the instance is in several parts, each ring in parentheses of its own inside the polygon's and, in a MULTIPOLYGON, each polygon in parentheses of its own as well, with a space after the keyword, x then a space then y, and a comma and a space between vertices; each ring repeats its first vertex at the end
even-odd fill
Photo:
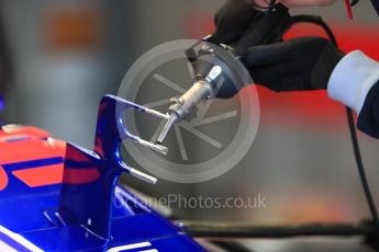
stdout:
POLYGON ((358 128, 379 138, 379 62, 359 50, 347 54, 335 67, 327 94, 358 114, 358 128))

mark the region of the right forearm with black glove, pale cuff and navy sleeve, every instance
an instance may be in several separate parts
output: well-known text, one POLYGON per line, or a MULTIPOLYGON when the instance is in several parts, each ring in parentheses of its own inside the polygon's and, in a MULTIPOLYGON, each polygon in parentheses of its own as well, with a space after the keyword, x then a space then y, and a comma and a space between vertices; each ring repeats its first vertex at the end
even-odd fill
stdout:
POLYGON ((327 90, 358 114, 358 128, 379 138, 379 62, 355 50, 344 55, 321 37, 299 37, 248 48, 253 80, 275 91, 327 90))

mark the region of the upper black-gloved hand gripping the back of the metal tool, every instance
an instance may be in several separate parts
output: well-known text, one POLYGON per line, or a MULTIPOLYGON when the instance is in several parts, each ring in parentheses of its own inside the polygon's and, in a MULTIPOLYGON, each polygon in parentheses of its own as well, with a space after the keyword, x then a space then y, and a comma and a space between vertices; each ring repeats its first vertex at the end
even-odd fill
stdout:
MULTIPOLYGON (((228 0, 214 16, 213 37, 233 47, 238 55, 255 45, 282 41, 291 26, 291 16, 285 5, 277 4, 275 13, 255 10, 246 0, 228 0)), ((221 87, 216 98, 231 98, 236 87, 221 87)))

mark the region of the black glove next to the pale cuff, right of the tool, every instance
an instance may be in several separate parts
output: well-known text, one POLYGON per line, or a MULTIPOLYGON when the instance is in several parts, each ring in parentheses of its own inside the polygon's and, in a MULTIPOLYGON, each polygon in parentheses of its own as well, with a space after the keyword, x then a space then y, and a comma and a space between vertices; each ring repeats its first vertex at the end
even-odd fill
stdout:
POLYGON ((326 89, 344 54, 322 37, 299 37, 248 48, 242 55, 255 83, 275 91, 326 89))

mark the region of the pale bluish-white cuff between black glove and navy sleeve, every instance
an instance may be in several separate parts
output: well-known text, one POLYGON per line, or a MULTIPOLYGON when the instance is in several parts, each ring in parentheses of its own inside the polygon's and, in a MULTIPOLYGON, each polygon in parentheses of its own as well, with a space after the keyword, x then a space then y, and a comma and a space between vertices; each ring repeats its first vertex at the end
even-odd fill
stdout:
POLYGON ((327 94, 359 114, 368 92, 378 80, 379 62, 360 50, 354 50, 333 70, 327 83, 327 94))

